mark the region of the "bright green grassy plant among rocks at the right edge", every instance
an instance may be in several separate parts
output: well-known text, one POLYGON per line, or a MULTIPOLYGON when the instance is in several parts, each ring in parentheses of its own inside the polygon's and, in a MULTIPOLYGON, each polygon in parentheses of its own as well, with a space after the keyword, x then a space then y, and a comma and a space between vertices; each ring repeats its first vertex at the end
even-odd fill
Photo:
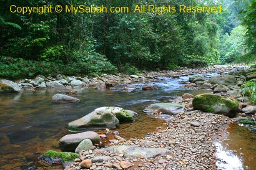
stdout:
POLYGON ((249 80, 242 86, 242 96, 247 96, 249 101, 256 105, 256 82, 249 80))

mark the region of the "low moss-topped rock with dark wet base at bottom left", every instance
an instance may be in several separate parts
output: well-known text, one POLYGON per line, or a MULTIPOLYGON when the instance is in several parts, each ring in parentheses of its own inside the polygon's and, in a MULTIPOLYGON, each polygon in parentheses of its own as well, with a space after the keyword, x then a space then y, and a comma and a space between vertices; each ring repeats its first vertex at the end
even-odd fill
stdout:
POLYGON ((49 150, 39 156, 39 160, 44 161, 45 163, 50 165, 73 162, 76 158, 79 158, 79 154, 69 152, 57 152, 52 150, 49 150))

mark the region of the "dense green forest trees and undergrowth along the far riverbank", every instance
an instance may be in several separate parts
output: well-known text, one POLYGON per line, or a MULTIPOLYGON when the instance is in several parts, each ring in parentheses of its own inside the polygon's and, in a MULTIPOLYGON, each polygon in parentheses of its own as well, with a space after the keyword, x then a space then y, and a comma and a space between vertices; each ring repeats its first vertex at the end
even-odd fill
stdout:
POLYGON ((162 6, 217 6, 218 13, 11 13, 9 7, 129 6, 149 1, 10 1, 0 7, 0 77, 21 78, 62 73, 92 75, 117 70, 137 73, 254 62, 256 0, 150 1, 162 6), (243 11, 244 10, 244 11, 243 11))

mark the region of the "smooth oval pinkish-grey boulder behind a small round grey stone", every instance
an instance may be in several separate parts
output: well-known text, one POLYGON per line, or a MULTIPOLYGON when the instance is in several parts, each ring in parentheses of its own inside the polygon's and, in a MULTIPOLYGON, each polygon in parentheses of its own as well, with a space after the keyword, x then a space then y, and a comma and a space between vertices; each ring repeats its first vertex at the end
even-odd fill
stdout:
POLYGON ((90 139, 92 144, 100 144, 101 137, 94 131, 86 131, 82 133, 76 133, 63 136, 59 140, 59 148, 62 151, 75 151, 79 143, 84 139, 90 139))

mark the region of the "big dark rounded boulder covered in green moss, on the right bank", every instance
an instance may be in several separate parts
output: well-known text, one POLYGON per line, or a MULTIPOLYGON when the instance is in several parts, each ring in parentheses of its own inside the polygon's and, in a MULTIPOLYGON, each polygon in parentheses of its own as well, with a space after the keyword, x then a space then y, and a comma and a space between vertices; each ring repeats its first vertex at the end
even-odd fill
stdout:
POLYGON ((234 118, 239 110, 239 103, 229 97, 220 95, 202 94, 193 99, 194 110, 220 114, 234 118))

